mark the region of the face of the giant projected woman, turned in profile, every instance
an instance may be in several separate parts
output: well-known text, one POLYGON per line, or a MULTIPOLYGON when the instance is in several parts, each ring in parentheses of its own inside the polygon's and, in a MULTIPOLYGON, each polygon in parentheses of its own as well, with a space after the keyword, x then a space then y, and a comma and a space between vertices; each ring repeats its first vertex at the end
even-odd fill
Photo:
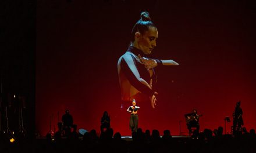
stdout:
POLYGON ((144 35, 140 35, 138 39, 138 48, 144 54, 151 54, 152 50, 157 46, 158 31, 155 27, 149 27, 144 35))

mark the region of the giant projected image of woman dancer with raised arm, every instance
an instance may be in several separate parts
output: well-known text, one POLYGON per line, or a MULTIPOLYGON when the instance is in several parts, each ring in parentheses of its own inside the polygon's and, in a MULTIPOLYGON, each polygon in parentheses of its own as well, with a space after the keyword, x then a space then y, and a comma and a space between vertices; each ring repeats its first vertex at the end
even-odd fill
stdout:
POLYGON ((158 93, 154 88, 157 82, 154 68, 162 65, 179 65, 173 60, 148 57, 157 46, 157 38, 158 30, 152 23, 149 13, 142 12, 140 20, 131 31, 130 46, 118 60, 123 103, 130 103, 133 99, 150 101, 152 108, 155 108, 158 93))

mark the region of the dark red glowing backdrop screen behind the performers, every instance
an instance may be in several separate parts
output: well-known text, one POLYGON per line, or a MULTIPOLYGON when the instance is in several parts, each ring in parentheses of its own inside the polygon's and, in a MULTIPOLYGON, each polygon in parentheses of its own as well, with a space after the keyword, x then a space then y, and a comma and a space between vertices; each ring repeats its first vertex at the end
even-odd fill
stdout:
MULTIPOLYGON (((139 126, 187 132, 184 114, 197 108, 201 130, 224 126, 241 100, 247 129, 256 128, 255 13, 248 3, 163 1, 38 1, 36 126, 57 130, 70 110, 78 128, 96 129, 104 111, 111 127, 130 135, 120 108, 117 61, 130 42, 140 10, 158 27, 152 57, 173 59, 157 69, 157 107, 141 104, 139 126)), ((227 124, 230 132, 231 123, 227 124)))

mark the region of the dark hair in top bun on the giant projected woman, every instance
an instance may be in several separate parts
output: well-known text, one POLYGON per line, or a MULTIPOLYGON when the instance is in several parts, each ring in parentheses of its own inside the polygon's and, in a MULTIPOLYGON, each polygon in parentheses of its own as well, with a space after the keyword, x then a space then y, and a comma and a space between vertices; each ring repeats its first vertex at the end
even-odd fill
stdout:
POLYGON ((150 13, 148 13, 147 11, 141 12, 140 20, 138 20, 137 23, 134 24, 133 30, 131 30, 131 41, 134 41, 134 35, 136 32, 140 32, 141 35, 144 35, 144 33, 148 31, 149 27, 155 27, 155 24, 151 21, 150 13))

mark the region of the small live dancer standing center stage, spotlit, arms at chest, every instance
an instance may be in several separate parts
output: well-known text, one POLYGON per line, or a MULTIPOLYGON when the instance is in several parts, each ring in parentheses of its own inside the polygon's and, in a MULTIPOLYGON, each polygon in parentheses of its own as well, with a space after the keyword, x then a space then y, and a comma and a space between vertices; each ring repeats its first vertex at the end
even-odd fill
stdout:
POLYGON ((133 132, 137 132, 138 129, 138 110, 140 109, 140 107, 138 107, 136 105, 136 101, 135 99, 133 99, 133 105, 131 105, 128 109, 127 112, 130 112, 131 117, 130 117, 130 129, 131 129, 131 133, 133 132))

